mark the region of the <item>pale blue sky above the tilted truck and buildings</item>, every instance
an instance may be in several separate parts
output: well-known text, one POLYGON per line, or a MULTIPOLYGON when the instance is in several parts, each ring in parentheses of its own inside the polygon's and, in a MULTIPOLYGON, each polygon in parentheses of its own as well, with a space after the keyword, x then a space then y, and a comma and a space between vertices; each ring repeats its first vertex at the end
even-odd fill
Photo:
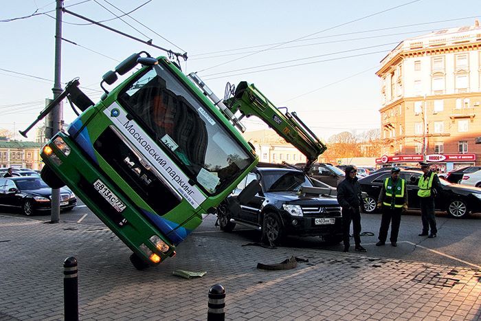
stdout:
MULTIPOLYGON (((479 0, 67 0, 65 8, 187 52, 183 71, 198 71, 219 97, 227 82, 254 83, 325 140, 342 131, 379 129, 374 73, 397 43, 481 20, 479 0)), ((0 129, 24 129, 53 96, 54 10, 52 0, 1 1, 0 129), (23 16, 30 17, 10 20, 23 16)), ((63 21, 62 82, 80 77, 94 101, 102 75, 120 60, 142 50, 165 55, 71 14, 63 21)), ((64 118, 75 118, 68 104, 64 118)), ((254 118, 245 124, 262 128, 254 118)))

